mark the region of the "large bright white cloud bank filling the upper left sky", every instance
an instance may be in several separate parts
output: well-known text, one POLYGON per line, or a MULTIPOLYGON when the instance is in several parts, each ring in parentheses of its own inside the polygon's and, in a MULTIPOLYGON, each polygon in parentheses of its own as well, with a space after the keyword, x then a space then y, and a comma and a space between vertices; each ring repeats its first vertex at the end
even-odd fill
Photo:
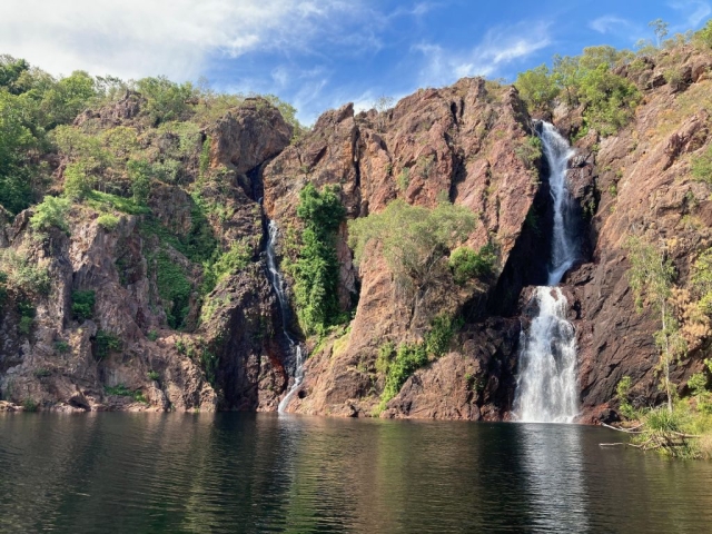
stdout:
MULTIPOLYGON (((210 56, 305 51, 318 39, 377 46, 344 24, 363 0, 3 0, 0 51, 52 73, 197 78, 210 56)), ((353 29, 353 28, 352 28, 353 29)))

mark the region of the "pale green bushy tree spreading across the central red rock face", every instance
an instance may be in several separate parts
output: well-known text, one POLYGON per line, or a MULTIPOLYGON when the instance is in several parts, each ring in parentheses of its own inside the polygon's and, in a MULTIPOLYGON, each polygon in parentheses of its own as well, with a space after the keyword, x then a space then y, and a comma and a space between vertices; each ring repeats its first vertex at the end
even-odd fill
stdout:
POLYGON ((360 263, 366 245, 382 244, 390 271, 399 281, 425 289, 436 265, 475 228, 475 215, 444 201, 434 209, 394 200, 380 214, 349 221, 349 245, 360 263))

